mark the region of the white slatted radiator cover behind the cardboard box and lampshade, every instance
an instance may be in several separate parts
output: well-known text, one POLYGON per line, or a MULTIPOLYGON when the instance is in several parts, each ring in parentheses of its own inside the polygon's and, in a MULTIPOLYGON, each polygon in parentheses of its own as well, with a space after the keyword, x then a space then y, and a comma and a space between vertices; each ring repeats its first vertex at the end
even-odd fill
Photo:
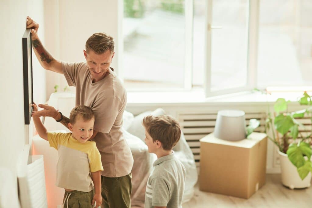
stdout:
MULTIPOLYGON (((199 140, 209 133, 212 133, 216 124, 217 112, 179 112, 178 120, 181 129, 185 135, 185 139, 193 152, 197 172, 199 173, 200 167, 200 155, 199 155, 199 140)), ((246 112, 246 125, 249 124, 249 120, 256 118, 260 121, 260 126, 256 128, 256 132, 264 132, 265 130, 265 112, 246 112)))

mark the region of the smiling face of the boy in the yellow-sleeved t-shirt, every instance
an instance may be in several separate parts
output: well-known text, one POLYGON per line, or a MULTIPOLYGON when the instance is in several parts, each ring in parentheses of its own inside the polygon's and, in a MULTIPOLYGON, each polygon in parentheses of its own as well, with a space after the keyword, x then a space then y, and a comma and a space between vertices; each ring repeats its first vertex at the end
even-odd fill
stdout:
POLYGON ((77 115, 74 124, 69 123, 68 128, 72 132, 74 139, 80 143, 85 143, 93 135, 94 118, 84 121, 80 115, 77 115))

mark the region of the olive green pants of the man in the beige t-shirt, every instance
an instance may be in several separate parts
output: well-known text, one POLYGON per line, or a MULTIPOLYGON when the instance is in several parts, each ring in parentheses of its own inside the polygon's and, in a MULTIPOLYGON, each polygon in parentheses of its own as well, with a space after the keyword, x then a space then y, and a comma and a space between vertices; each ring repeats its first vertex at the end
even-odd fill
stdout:
POLYGON ((104 208, 130 208, 131 207, 131 173, 126 176, 109 178, 101 176, 102 206, 104 208))

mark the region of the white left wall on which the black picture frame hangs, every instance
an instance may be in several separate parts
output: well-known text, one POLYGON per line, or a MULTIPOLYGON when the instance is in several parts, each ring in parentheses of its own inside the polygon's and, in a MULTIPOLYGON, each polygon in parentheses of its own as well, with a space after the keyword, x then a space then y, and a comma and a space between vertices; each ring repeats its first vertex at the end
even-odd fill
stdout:
MULTIPOLYGON (((43 21, 43 0, 1 1, 0 166, 8 168, 13 178, 17 175, 17 156, 32 135, 32 128, 24 125, 22 36, 27 16, 43 21)), ((38 63, 33 63, 33 79, 34 101, 42 102, 46 97, 45 72, 38 63)))

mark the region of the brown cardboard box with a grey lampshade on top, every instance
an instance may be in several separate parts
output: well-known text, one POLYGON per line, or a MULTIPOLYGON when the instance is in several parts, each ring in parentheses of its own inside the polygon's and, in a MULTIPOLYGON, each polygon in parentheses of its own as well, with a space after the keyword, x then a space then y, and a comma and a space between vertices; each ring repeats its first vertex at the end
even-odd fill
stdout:
POLYGON ((226 141, 213 133, 200 140, 199 190, 248 199, 266 181, 267 137, 226 141))

